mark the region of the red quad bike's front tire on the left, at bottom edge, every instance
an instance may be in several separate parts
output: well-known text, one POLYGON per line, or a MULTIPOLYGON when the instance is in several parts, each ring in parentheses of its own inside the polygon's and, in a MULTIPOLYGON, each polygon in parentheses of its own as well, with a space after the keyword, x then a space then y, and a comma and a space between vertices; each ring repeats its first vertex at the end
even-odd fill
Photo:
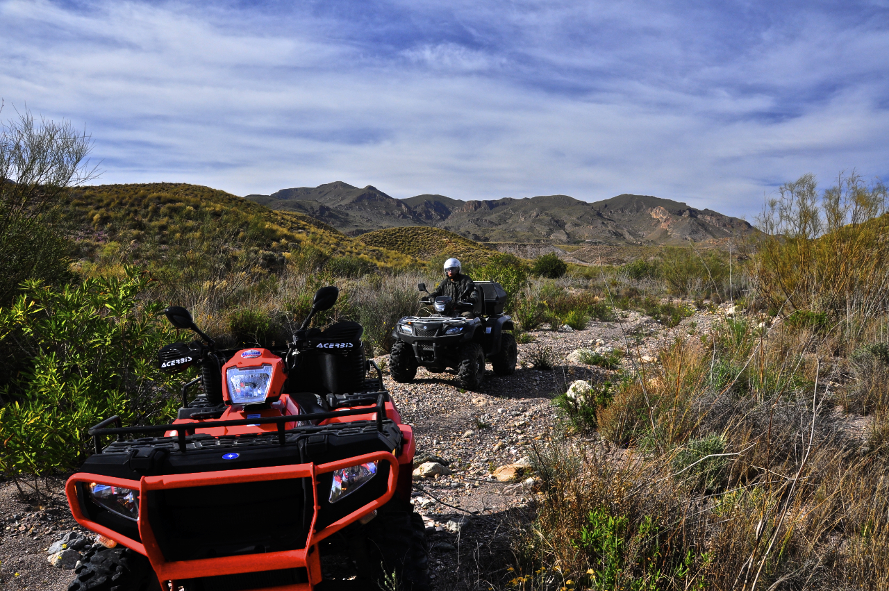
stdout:
POLYGON ((74 572, 68 591, 161 591, 148 558, 126 547, 94 544, 74 572))

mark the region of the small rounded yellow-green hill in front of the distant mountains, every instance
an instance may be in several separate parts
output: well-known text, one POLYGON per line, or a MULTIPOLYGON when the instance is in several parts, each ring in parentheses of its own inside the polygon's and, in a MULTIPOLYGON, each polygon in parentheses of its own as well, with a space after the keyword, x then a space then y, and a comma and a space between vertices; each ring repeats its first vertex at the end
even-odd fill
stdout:
POLYGON ((357 239, 368 246, 402 252, 419 260, 447 256, 463 262, 484 262, 496 252, 445 229, 422 226, 376 230, 357 239))

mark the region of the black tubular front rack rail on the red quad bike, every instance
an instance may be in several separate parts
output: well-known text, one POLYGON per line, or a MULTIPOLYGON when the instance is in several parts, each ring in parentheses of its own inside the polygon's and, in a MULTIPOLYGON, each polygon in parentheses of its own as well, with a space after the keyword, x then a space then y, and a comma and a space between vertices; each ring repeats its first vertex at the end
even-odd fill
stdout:
MULTIPOLYGON (((368 399, 368 402, 371 402, 372 399, 368 399)), ((383 420, 388 419, 386 416, 386 401, 388 400, 387 392, 380 392, 377 395, 376 399, 376 413, 377 413, 377 431, 382 433, 383 431, 383 420)), ((364 402, 364 401, 362 401, 364 402)), ((213 420, 212 422, 206 423, 180 423, 178 425, 143 425, 137 427, 123 427, 123 421, 121 421, 120 417, 115 415, 113 417, 109 417, 108 419, 103 420, 98 425, 94 427, 90 427, 88 433, 92 436, 92 444, 95 447, 96 453, 101 453, 101 442, 100 437, 102 435, 117 435, 117 441, 123 441, 124 435, 135 435, 138 433, 164 433, 165 431, 176 431, 177 441, 179 443, 179 451, 185 452, 185 438, 188 435, 194 435, 195 429, 200 428, 210 428, 210 427, 243 427, 245 425, 256 426, 256 425, 270 425, 275 424, 277 427, 277 436, 278 443, 284 445, 285 435, 292 431, 296 431, 298 429, 284 429, 284 424, 300 422, 300 421, 312 421, 312 420, 322 420, 322 419, 333 419, 334 417, 352 417, 360 414, 368 414, 371 409, 364 408, 356 408, 356 409, 348 409, 346 411, 328 411, 328 412, 310 412, 307 414, 292 414, 285 415, 281 417, 266 417, 264 419, 238 419, 238 420, 213 420), (117 427, 108 428, 108 425, 112 423, 116 424, 117 427)), ((348 427, 348 423, 344 423, 344 427, 348 427)))

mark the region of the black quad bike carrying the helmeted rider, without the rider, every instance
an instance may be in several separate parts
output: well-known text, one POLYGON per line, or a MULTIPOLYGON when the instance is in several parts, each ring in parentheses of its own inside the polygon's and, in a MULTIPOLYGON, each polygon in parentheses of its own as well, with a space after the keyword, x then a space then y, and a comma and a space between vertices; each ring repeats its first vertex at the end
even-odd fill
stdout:
MULTIPOLYGON (((426 284, 418 285, 426 292, 426 284)), ((428 294, 428 292, 426 292, 428 294)), ((457 370, 461 387, 473 390, 485 376, 485 359, 494 373, 506 376, 516 371, 518 350, 509 332, 512 318, 503 314, 506 292, 493 281, 476 283, 474 293, 464 293, 456 301, 450 296, 421 298, 435 310, 429 316, 404 316, 392 336, 396 342, 389 352, 389 371, 397 382, 409 382, 422 365, 428 371, 457 370), (471 312, 472 317, 461 316, 471 312)))

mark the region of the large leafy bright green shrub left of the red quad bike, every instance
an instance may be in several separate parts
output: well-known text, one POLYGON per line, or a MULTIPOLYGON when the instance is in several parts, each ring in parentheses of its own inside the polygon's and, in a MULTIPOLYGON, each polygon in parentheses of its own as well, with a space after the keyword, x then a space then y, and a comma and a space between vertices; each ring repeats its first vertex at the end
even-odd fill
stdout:
POLYGON ((0 308, 0 339, 28 357, 0 390, 0 469, 6 475, 69 470, 89 453, 87 427, 119 415, 124 424, 172 420, 174 379, 156 355, 173 331, 162 304, 140 304, 148 277, 88 279, 60 290, 28 281, 0 308))

